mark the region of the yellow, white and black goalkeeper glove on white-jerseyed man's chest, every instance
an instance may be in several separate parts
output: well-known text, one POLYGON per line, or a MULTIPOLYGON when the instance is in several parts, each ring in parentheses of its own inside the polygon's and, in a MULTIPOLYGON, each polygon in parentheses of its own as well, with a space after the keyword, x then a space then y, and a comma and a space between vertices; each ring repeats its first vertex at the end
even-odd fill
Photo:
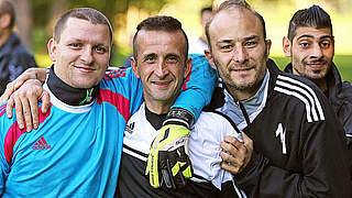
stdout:
POLYGON ((193 116, 186 110, 172 109, 168 113, 147 158, 145 175, 150 175, 152 187, 158 188, 165 184, 167 188, 182 188, 186 185, 186 178, 193 176, 188 152, 188 127, 191 121, 193 116))

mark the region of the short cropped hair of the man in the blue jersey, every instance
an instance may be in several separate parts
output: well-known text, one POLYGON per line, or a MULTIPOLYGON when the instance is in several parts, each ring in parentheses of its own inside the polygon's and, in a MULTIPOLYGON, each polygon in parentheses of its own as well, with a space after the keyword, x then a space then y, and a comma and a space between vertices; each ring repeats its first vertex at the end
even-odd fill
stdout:
POLYGON ((59 42, 63 30, 69 18, 81 19, 91 22, 92 24, 106 24, 110 32, 110 42, 113 43, 113 31, 110 21, 106 15, 92 8, 77 8, 65 12, 56 22, 53 37, 56 42, 59 42))

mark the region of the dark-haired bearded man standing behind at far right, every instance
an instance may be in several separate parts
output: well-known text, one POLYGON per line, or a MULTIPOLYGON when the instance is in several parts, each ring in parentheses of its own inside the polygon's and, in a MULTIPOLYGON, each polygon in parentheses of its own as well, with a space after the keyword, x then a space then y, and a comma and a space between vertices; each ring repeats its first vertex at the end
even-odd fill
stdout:
POLYGON ((312 80, 328 97, 343 124, 352 157, 352 86, 342 82, 332 62, 334 37, 330 15, 318 6, 298 10, 289 22, 283 48, 285 55, 292 57, 285 72, 312 80))

